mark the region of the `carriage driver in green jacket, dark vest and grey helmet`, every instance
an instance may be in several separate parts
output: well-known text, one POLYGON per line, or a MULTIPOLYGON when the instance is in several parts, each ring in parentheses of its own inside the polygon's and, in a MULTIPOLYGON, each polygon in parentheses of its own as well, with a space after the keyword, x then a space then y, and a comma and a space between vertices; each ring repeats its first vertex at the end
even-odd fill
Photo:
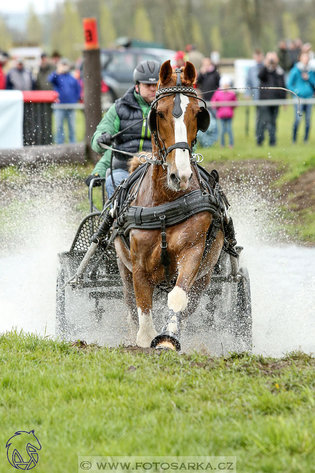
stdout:
MULTIPOLYGON (((96 153, 104 152, 100 143, 129 153, 151 151, 151 133, 146 118, 150 111, 150 104, 155 100, 159 68, 158 61, 142 61, 134 69, 133 81, 135 85, 130 87, 123 97, 115 101, 96 127, 91 140, 92 149, 96 153), (134 126, 124 131, 133 122, 134 126), (123 133, 112 138, 120 131, 123 133)), ((85 180, 89 186, 95 176, 106 177, 105 186, 108 197, 115 190, 112 177, 107 172, 107 169, 110 168, 112 153, 113 179, 115 187, 117 187, 129 175, 127 167, 130 157, 110 149, 105 151, 92 174, 85 180)))

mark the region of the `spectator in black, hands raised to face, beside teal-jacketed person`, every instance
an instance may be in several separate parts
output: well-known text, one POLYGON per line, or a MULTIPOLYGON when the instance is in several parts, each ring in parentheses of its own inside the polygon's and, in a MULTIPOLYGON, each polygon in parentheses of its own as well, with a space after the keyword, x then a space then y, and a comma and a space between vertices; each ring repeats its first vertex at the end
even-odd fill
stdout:
MULTIPOLYGON (((264 61, 264 66, 258 73, 260 87, 284 87, 284 70, 279 66, 277 53, 268 52, 264 61)), ((285 91, 274 89, 261 89, 259 91, 260 100, 285 99, 285 91)), ((276 122, 278 115, 278 105, 261 106, 257 122, 256 138, 257 145, 260 146, 264 140, 265 128, 269 132, 269 144, 276 144, 276 122)))

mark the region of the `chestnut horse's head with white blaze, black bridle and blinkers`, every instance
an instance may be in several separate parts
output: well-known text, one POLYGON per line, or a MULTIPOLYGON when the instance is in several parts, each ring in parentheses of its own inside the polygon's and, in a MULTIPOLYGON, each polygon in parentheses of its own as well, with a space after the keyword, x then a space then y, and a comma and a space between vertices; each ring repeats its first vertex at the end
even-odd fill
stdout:
POLYGON ((195 78, 195 68, 189 61, 184 70, 175 71, 170 61, 165 61, 159 72, 157 100, 148 117, 154 153, 158 152, 162 157, 167 168, 167 184, 173 191, 188 188, 192 177, 191 152, 197 132, 207 130, 210 123, 207 108, 198 104, 193 89, 195 78))

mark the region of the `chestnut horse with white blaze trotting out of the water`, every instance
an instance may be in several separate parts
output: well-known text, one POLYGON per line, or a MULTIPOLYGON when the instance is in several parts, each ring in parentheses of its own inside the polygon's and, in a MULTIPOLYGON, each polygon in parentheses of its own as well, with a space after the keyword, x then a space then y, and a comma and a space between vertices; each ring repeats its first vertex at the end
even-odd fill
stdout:
MULTIPOLYGON (((182 86, 191 88, 195 75, 194 66, 187 62, 180 74, 182 86)), ((178 74, 173 72, 170 61, 166 61, 160 68, 157 89, 174 87, 176 84, 178 74)), ((205 111, 204 108, 203 110, 205 111)), ((191 94, 172 93, 159 98, 155 108, 158 134, 156 140, 152 137, 152 156, 160 156, 161 148, 168 148, 175 143, 184 143, 184 146, 171 149, 164 165, 149 165, 133 205, 154 207, 200 189, 197 171, 191 165, 191 147, 195 142, 201 112, 198 100, 191 94), (178 96, 182 113, 174 116, 178 96)), ((200 212, 166 229, 169 275, 172 280, 176 280, 174 288, 168 293, 167 301, 171 314, 168 328, 174 333, 178 329, 176 316, 180 318, 194 311, 210 282, 212 270, 221 253, 224 236, 219 230, 211 251, 204 255, 212 218, 210 212, 200 212)), ((161 231, 132 229, 129 238, 130 252, 121 238, 115 238, 118 266, 129 312, 128 323, 134 338, 136 336, 137 345, 149 347, 157 336, 152 318, 153 292, 165 280, 164 267, 160 261, 161 231)))

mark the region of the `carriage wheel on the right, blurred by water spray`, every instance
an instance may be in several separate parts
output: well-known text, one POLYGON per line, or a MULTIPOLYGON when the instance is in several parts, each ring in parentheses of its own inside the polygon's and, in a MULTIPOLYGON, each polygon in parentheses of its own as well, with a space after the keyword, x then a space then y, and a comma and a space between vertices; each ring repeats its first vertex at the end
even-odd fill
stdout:
POLYGON ((252 350, 252 301, 247 268, 240 268, 237 282, 234 334, 245 342, 246 350, 252 350))

